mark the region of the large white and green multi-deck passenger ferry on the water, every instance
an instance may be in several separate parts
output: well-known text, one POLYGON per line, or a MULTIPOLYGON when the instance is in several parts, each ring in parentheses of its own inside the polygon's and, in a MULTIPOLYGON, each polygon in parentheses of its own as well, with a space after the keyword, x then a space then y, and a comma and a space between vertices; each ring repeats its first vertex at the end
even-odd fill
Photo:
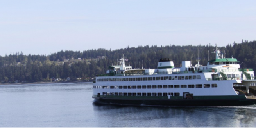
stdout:
POLYGON ((244 106, 256 104, 252 69, 240 68, 235 58, 225 58, 217 45, 216 58, 207 66, 199 62, 160 59, 156 69, 132 69, 123 55, 118 66, 93 81, 94 102, 140 106, 244 106))

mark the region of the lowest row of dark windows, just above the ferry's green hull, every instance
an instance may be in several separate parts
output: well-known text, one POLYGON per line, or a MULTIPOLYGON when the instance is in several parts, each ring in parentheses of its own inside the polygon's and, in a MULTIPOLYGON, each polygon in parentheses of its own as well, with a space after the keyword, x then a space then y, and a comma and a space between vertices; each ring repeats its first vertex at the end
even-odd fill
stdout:
POLYGON ((167 93, 167 92, 158 92, 158 93, 156 93, 156 92, 138 92, 138 93, 136 93, 136 92, 103 92, 103 95, 120 95, 120 96, 168 96, 168 95, 170 95, 170 96, 179 96, 179 92, 169 92, 169 93, 167 93))

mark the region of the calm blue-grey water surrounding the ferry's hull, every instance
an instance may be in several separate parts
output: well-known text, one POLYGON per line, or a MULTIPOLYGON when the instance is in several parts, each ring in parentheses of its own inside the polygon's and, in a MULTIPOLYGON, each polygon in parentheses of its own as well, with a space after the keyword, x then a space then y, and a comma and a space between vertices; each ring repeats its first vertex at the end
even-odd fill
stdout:
POLYGON ((97 106, 91 83, 0 85, 0 127, 256 127, 256 105, 97 106))

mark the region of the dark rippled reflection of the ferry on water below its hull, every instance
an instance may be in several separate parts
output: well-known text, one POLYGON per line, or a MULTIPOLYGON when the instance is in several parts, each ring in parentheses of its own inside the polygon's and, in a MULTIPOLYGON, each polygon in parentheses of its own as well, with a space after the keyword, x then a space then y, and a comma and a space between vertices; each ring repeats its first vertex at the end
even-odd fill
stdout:
MULTIPOLYGON (((93 104, 104 127, 254 127, 256 106, 152 107, 93 104), (104 121, 110 121, 106 123, 104 121), (120 123, 121 122, 121 123, 120 123), (113 125, 112 125, 113 124, 113 125)), ((98 125, 102 127, 102 125, 98 125)))

